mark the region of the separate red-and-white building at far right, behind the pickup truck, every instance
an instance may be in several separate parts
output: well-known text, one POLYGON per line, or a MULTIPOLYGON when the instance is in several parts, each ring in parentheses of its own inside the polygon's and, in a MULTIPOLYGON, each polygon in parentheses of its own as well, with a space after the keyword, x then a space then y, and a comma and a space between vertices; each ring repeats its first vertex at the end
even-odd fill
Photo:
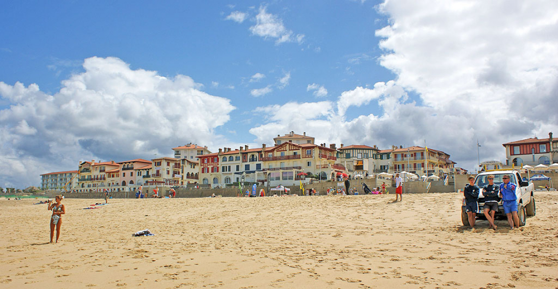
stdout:
POLYGON ((506 148, 507 166, 550 165, 558 162, 558 138, 527 138, 502 144, 506 148))

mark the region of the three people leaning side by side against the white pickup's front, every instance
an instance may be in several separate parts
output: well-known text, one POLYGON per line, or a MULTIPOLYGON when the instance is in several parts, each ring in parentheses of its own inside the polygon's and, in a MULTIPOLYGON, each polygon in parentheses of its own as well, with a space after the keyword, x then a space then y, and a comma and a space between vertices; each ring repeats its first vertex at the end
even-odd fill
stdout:
POLYGON ((502 177, 502 184, 494 184, 494 175, 488 176, 488 184, 482 188, 475 185, 475 178, 469 177, 469 184, 465 186, 463 195, 465 197, 465 210, 467 218, 469 219, 469 226, 475 227, 475 219, 477 218, 477 211, 479 210, 478 198, 479 194, 484 196, 484 216, 490 223, 490 229, 496 230, 497 225, 494 225, 494 214, 498 211, 498 202, 502 200, 504 214, 508 218, 509 228, 519 228, 519 216, 517 215, 517 198, 516 187, 517 185, 510 181, 509 175, 502 177))

